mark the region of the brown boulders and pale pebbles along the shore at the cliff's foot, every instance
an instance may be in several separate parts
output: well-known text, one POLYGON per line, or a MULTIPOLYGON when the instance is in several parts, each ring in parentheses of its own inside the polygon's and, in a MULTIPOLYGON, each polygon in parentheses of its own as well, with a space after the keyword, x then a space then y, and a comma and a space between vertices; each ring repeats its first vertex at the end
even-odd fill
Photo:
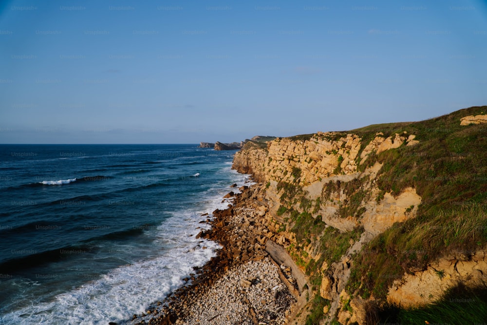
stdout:
POLYGON ((264 189, 254 185, 239 190, 225 195, 232 204, 208 215, 211 229, 196 237, 218 242, 222 248, 217 256, 195 269, 187 286, 145 314, 134 315, 128 324, 287 324, 299 311, 302 277, 296 276, 290 259, 278 256, 285 250, 277 252, 272 242, 276 233, 264 224, 264 189))

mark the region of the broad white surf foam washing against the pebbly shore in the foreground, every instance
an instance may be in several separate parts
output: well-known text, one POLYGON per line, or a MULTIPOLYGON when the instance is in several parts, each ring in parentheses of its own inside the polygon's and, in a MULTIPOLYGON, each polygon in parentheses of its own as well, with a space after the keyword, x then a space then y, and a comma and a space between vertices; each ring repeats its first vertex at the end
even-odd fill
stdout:
POLYGON ((99 280, 57 295, 52 302, 6 314, 0 324, 108 324, 145 312, 151 303, 183 286, 193 266, 202 267, 216 256, 218 244, 195 239, 199 229, 194 214, 192 219, 189 227, 178 217, 159 227, 154 245, 166 249, 157 258, 116 268, 99 280))

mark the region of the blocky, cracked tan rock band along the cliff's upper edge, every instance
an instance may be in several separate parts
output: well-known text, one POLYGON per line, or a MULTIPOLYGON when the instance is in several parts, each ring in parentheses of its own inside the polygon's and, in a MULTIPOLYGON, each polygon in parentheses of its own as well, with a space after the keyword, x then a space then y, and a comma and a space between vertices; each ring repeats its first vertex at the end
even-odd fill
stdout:
POLYGON ((333 175, 350 175, 371 153, 416 144, 414 135, 395 134, 375 138, 361 148, 356 134, 321 133, 307 140, 276 138, 268 142, 267 150, 241 151, 235 155, 233 168, 239 172, 257 172, 260 181, 294 182, 305 186, 333 175), (360 153, 360 154, 359 154, 360 153), (299 170, 299 176, 296 174, 299 170), (262 178, 260 178, 262 176, 262 178))

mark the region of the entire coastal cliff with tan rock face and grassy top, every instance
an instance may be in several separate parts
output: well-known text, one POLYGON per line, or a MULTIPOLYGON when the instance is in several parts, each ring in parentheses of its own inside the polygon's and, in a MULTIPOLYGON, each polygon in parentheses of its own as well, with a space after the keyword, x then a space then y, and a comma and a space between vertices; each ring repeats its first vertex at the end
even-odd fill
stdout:
POLYGON ((307 275, 310 324, 391 321, 381 315, 443 304, 459 285, 484 289, 486 113, 275 138, 235 154, 233 168, 265 189, 262 218, 307 275))

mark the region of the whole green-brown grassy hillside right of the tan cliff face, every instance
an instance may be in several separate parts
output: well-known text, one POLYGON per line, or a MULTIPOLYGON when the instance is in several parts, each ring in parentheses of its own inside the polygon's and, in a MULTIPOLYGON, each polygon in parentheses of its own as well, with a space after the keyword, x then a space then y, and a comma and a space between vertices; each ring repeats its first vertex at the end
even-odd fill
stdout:
POLYGON ((399 194, 413 187, 422 197, 418 215, 388 229, 358 254, 348 286, 364 298, 384 298, 401 274, 424 269, 440 254, 471 252, 487 243, 487 125, 460 126, 460 118, 487 114, 472 107, 412 123, 373 125, 354 130, 363 138, 375 132, 415 134, 420 143, 373 157, 383 163, 378 186, 399 194), (387 273, 387 274, 386 274, 387 273), (363 275, 366 274, 364 277, 363 275))

